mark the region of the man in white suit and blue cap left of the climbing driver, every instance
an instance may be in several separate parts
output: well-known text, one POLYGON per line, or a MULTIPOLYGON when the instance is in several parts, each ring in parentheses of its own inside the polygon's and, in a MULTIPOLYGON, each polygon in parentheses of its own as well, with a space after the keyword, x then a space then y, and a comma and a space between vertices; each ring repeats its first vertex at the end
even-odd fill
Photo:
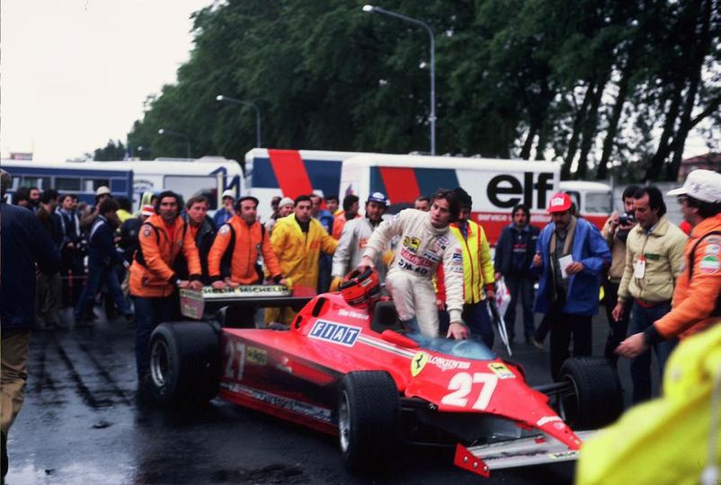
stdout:
MULTIPOLYGON (((338 291, 343 283, 343 276, 358 266, 360 257, 365 250, 370 234, 383 222, 383 214, 386 213, 388 199, 381 192, 373 192, 366 200, 366 215, 352 219, 343 225, 341 239, 338 240, 338 247, 333 255, 333 280, 331 291, 338 291)), ((389 247, 389 246, 388 246, 389 247)), ((389 251, 384 248, 383 255, 389 251)), ((377 260, 380 263, 380 258, 377 260)), ((386 265, 378 264, 378 279, 382 283, 386 279, 386 265)))

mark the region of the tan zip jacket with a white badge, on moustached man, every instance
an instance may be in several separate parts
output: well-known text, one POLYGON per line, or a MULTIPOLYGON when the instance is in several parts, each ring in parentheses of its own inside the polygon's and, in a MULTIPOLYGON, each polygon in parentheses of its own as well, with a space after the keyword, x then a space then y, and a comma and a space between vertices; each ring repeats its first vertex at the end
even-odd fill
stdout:
POLYGON ((631 298, 645 303, 671 300, 676 278, 681 274, 683 247, 687 236, 677 225, 662 216, 651 234, 636 225, 626 241, 626 267, 619 287, 619 302, 631 298), (639 258, 645 259, 643 278, 636 278, 634 269, 639 258))

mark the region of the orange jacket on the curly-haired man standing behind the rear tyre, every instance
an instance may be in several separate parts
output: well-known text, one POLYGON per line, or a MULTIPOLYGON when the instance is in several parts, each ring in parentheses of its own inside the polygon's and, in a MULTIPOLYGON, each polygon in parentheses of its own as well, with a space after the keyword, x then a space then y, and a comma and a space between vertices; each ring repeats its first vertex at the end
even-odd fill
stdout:
POLYGON ((140 227, 136 258, 130 266, 130 295, 156 298, 172 295, 178 279, 173 265, 182 251, 191 279, 200 280, 200 256, 182 217, 176 217, 171 241, 163 218, 157 214, 140 227))

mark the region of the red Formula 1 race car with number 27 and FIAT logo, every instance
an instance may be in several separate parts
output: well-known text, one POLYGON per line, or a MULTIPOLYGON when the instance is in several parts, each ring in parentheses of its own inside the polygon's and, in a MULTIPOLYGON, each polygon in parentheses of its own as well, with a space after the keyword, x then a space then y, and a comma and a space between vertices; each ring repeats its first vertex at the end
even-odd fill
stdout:
POLYGON ((401 333, 392 302, 369 311, 345 296, 317 295, 289 328, 159 325, 149 346, 154 396, 218 395, 337 434, 355 472, 409 442, 455 445, 455 464, 485 476, 574 460, 585 433, 571 427, 599 427, 622 411, 618 376, 602 358, 569 359, 558 383, 533 389, 521 366, 479 341, 401 333))

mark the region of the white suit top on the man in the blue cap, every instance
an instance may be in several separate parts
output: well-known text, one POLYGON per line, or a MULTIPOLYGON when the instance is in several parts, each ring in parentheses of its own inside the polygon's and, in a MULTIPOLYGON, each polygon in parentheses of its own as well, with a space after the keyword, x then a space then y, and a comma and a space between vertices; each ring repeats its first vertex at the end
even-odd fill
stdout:
MULTIPOLYGON (((335 248, 333 254, 333 269, 331 275, 333 277, 343 278, 346 273, 356 269, 360 264, 360 258, 363 257, 363 251, 368 244, 370 234, 378 225, 370 224, 368 217, 359 217, 352 219, 343 225, 343 233, 341 239, 338 240, 338 247, 335 248)), ((381 283, 386 280, 386 265, 383 264, 383 253, 390 250, 390 244, 386 244, 383 250, 378 252, 373 264, 376 265, 378 271, 378 279, 381 283)))

